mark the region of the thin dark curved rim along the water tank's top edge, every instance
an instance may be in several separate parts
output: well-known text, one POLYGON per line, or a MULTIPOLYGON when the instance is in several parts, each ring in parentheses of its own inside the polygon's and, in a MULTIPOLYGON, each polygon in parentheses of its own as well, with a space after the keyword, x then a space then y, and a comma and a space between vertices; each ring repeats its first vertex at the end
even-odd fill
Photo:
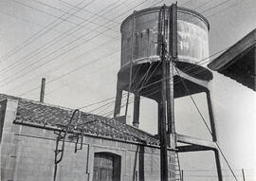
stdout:
MULTIPOLYGON (((153 7, 153 8, 148 8, 148 9, 140 9, 140 10, 135 10, 135 13, 136 14, 140 14, 140 13, 143 13, 143 12, 146 12, 146 11, 151 11, 151 10, 158 10, 158 9, 161 9, 161 7, 153 7)), ((168 9, 169 10, 169 9, 168 9)), ((205 24, 206 26, 208 27, 208 30, 210 30, 210 24, 209 24, 209 21, 207 20, 207 18, 205 16, 203 16, 202 14, 200 14, 199 12, 196 12, 195 10, 192 10, 192 9, 186 9, 186 8, 183 8, 183 7, 177 7, 177 10, 178 11, 184 11, 184 12, 189 12, 189 13, 192 13, 194 14, 195 16, 197 16, 199 19, 201 19, 205 24)), ((123 27, 123 24, 125 24, 128 20, 130 20, 131 18, 133 17, 133 14, 130 14, 128 17, 126 17, 121 25, 120 25, 120 30, 122 29, 123 27)))

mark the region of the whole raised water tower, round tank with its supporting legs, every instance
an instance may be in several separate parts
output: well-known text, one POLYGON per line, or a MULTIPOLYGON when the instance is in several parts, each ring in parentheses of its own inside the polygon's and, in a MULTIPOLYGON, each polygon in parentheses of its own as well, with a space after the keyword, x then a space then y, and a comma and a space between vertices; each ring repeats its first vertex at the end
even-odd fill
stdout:
MULTIPOLYGON (((141 97, 158 104, 158 136, 161 147, 161 180, 168 173, 167 150, 174 153, 213 151, 218 178, 222 180, 214 118, 210 101, 210 70, 204 65, 209 57, 209 23, 191 10, 155 7, 135 11, 121 24, 121 65, 118 74, 114 117, 120 116, 122 92, 134 94, 133 125, 139 124, 141 97), (174 99, 206 93, 212 141, 175 133, 174 99), (185 146, 177 146, 177 142, 185 146)), ((126 104, 128 106, 128 103, 126 104)), ((170 176, 169 176, 170 180, 170 176)))

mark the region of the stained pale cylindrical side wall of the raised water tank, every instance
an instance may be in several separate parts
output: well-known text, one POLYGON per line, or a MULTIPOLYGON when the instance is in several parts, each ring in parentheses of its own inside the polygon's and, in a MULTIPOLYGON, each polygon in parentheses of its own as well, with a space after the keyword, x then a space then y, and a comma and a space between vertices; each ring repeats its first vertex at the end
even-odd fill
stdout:
MULTIPOLYGON (((120 27, 120 71, 126 69, 131 61, 134 65, 137 65, 139 63, 152 63, 160 60, 157 51, 160 9, 161 7, 155 7, 136 11, 122 22, 120 27)), ((166 14, 169 15, 169 9, 165 10, 166 14)), ((209 57, 209 28, 207 19, 199 13, 191 9, 177 9, 178 62, 176 65, 180 69, 194 66, 193 70, 204 72, 204 74, 195 74, 197 78, 202 80, 212 79, 210 71, 206 68, 205 64, 202 64, 209 57)), ((169 45, 169 42, 167 42, 167 45, 169 45)), ((194 75, 194 71, 189 72, 189 74, 194 75)))

